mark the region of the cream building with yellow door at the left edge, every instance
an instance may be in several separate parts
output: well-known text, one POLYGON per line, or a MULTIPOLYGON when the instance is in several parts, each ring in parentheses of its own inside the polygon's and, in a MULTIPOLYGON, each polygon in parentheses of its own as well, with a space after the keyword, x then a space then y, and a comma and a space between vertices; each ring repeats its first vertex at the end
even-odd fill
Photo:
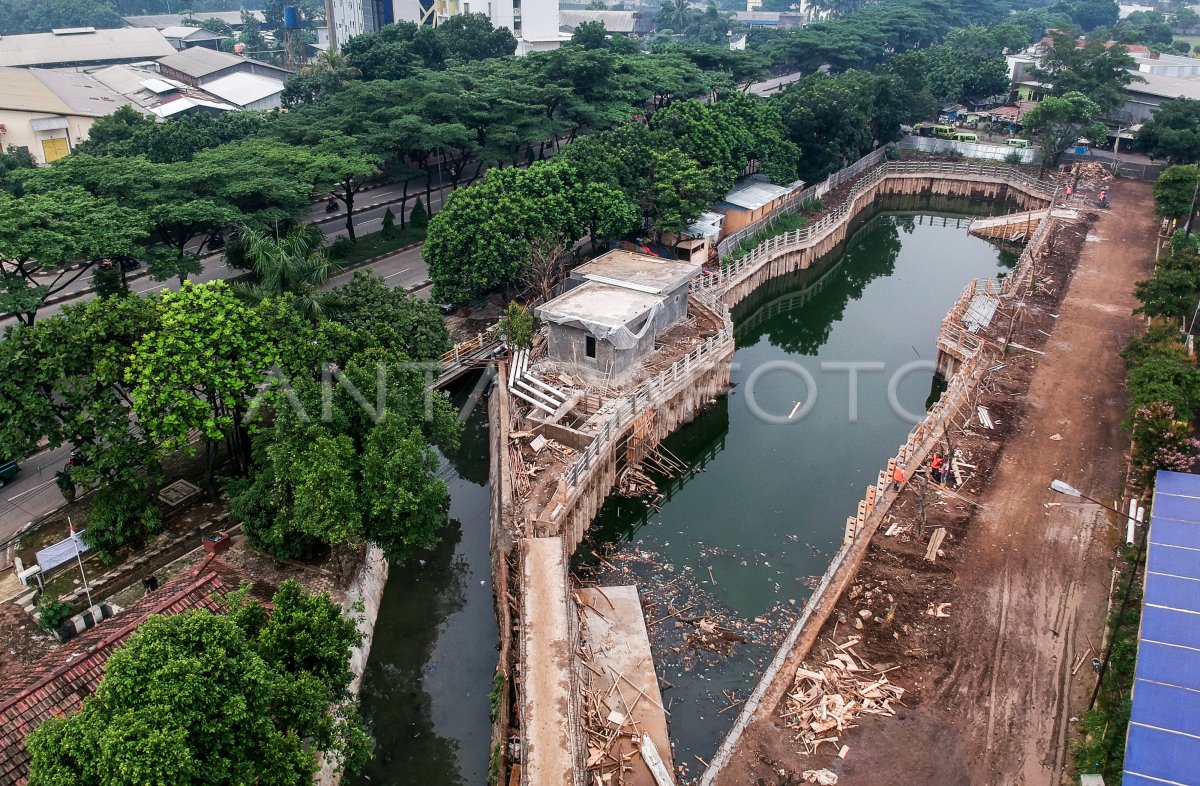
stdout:
POLYGON ((96 118, 132 101, 85 73, 0 68, 0 151, 24 148, 40 164, 88 138, 96 118))

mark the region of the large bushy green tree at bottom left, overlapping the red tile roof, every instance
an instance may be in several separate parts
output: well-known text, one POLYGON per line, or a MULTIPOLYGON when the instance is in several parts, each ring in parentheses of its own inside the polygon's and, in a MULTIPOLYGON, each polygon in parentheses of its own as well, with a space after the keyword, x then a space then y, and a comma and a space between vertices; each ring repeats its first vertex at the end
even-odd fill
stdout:
POLYGON ((268 612, 154 616, 80 710, 26 740, 32 786, 301 786, 317 755, 361 766, 368 738, 346 698, 353 620, 287 581, 268 612))

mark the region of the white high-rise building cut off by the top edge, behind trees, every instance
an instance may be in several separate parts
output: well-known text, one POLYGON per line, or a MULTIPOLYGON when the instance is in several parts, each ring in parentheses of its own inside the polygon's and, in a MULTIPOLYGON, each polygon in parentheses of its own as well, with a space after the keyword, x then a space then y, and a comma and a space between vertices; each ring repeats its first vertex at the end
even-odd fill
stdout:
POLYGON ((461 13, 484 13, 494 26, 511 30, 517 54, 554 49, 564 41, 558 0, 325 0, 325 12, 334 48, 394 22, 436 25, 461 13))

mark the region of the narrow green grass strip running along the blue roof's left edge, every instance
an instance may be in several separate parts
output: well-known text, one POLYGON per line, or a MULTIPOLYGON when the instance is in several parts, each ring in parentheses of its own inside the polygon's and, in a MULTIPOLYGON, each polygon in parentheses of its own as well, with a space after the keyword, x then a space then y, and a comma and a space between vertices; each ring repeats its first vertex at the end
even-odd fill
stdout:
MULTIPOLYGON (((1136 564, 1138 550, 1129 547, 1117 586, 1128 582, 1129 571, 1141 570, 1136 564)), ((1141 619, 1141 582, 1134 577, 1129 606, 1121 614, 1120 606, 1109 619, 1112 650, 1104 682, 1096 698, 1096 707, 1084 713, 1081 738, 1075 745, 1075 768, 1080 774, 1099 774, 1106 784, 1121 782, 1124 768, 1126 730, 1133 708, 1133 672, 1138 658, 1138 628, 1141 619), (1120 617, 1118 617, 1120 614, 1120 617)), ((1087 667, 1085 664, 1084 667, 1087 667)))

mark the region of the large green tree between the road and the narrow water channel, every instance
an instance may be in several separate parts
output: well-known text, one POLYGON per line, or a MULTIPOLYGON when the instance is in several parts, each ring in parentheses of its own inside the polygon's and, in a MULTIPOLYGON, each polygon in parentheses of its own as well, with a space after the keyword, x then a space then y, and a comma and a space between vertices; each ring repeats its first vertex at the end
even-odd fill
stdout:
POLYGON ((430 443, 456 444, 449 401, 384 349, 354 355, 324 385, 300 379, 270 400, 271 427, 254 439, 259 470, 228 484, 234 514, 278 557, 365 540, 401 559, 433 545, 448 488, 430 443))

